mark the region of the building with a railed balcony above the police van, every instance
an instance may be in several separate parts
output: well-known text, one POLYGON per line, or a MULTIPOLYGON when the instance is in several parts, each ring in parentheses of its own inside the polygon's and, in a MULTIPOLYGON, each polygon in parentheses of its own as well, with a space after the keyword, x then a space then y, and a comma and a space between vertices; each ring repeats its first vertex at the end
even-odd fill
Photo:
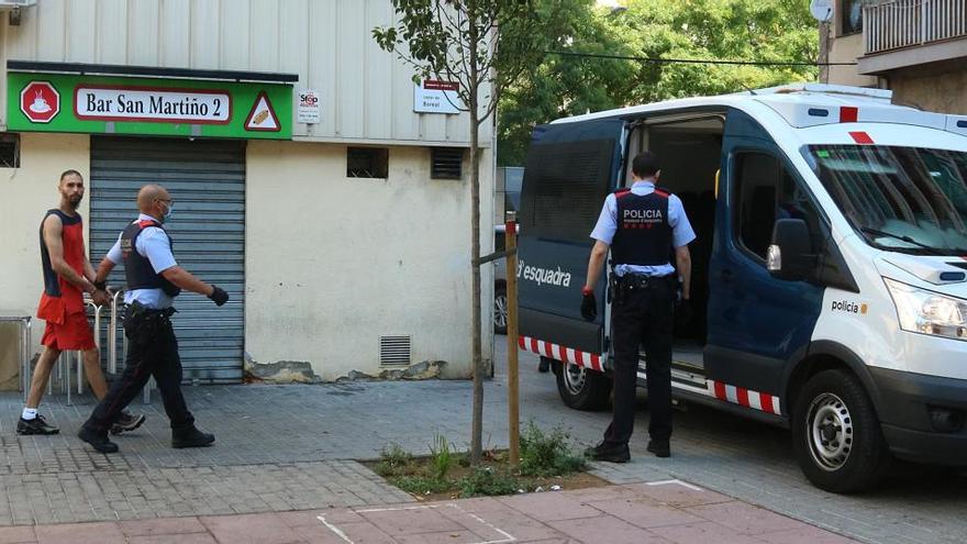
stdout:
POLYGON ((830 82, 880 87, 893 102, 967 112, 967 2, 837 0, 830 82))

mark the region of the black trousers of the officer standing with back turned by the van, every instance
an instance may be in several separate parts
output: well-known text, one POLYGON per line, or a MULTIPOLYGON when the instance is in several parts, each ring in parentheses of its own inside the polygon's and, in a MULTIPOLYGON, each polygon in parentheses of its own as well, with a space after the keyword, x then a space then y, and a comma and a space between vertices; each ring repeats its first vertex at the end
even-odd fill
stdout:
POLYGON ((671 343, 675 324, 675 275, 629 274, 613 286, 611 304, 614 345, 614 412, 604 442, 627 444, 634 431, 640 347, 644 346, 648 380, 648 433, 671 437, 671 343))

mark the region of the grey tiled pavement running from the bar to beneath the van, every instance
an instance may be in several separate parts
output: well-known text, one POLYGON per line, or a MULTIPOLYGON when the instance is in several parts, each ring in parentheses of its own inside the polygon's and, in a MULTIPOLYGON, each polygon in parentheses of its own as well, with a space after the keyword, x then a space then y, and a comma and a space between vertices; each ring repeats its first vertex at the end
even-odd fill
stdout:
MULTIPOLYGON (((566 409, 532 356, 521 354, 521 365, 524 421, 563 425, 576 441, 594 443, 608 414, 566 409)), ((486 386, 489 446, 507 443, 505 393, 500 374, 486 386)), ((20 396, 0 395, 0 414, 8 414, 0 418, 0 525, 397 503, 403 495, 347 459, 375 458, 391 443, 426 452, 434 432, 462 446, 470 426, 465 381, 187 387, 186 396, 200 425, 216 434, 214 447, 168 447, 155 398, 133 407, 147 423, 118 438, 121 454, 105 456, 74 437, 89 397, 73 407, 45 399, 42 412, 63 434, 23 437, 13 432, 20 396)), ((679 478, 865 542, 967 542, 964 473, 904 467, 874 492, 834 496, 804 480, 786 431, 690 407, 676 413, 673 457, 656 459, 644 453, 646 410, 638 420, 632 463, 598 467, 600 476, 679 478)))

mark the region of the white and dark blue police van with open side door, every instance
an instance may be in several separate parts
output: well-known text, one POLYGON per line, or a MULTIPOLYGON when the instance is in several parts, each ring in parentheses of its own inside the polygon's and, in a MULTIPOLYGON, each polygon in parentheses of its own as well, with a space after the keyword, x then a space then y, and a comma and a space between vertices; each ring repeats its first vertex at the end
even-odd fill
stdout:
POLYGON ((580 290, 604 197, 631 184, 643 149, 698 235, 678 401, 789 428, 803 473, 830 491, 868 488, 893 457, 967 464, 967 116, 797 84, 537 126, 520 345, 549 359, 571 408, 609 401, 607 277, 592 322, 580 290))

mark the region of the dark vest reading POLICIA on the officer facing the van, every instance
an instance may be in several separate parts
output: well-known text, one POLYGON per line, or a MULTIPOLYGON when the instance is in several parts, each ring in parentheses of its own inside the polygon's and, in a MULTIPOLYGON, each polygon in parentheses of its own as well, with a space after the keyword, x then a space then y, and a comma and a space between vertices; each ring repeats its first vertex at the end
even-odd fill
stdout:
POLYGON ((671 253, 668 193, 655 190, 635 195, 631 189, 614 193, 618 231, 611 244, 614 265, 660 266, 671 253))

